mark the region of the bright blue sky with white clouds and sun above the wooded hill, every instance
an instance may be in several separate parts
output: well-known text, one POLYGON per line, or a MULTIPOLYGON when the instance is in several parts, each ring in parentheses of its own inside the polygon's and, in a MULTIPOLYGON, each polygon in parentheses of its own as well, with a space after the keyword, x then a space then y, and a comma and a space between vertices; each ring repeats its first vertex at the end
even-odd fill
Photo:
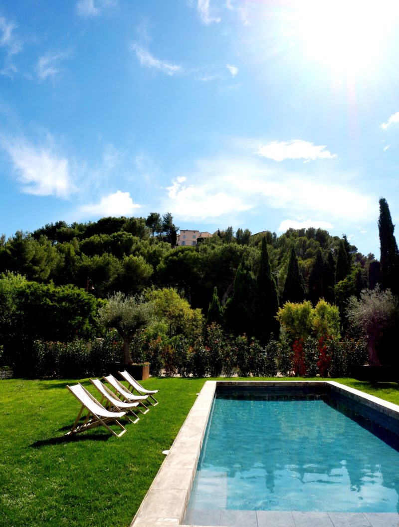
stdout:
POLYGON ((0 0, 0 232, 399 219, 392 0, 0 0))

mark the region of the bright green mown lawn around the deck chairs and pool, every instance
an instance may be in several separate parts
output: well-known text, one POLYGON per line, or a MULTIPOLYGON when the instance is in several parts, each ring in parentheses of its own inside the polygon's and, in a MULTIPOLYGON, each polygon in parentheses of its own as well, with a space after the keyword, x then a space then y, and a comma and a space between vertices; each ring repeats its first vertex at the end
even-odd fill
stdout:
MULTIPOLYGON (((65 386, 76 380, 0 380, 0 526, 128 527, 205 380, 148 379, 159 404, 126 434, 72 439, 79 404, 65 386)), ((335 380, 399 404, 395 383, 335 380)))

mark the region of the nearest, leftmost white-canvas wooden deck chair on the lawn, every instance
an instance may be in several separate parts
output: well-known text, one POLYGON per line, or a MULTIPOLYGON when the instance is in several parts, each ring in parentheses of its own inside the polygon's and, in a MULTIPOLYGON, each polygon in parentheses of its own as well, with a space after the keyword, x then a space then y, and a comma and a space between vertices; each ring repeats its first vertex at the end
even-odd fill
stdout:
POLYGON ((67 386, 69 392, 71 392, 81 403, 82 408, 80 409, 76 420, 72 426, 72 430, 65 435, 78 434, 79 432, 84 432, 89 430, 89 428, 94 428, 95 426, 103 425, 108 430, 109 433, 121 437, 126 432, 126 428, 119 423, 118 419, 123 417, 126 412, 109 412, 102 404, 100 404, 93 395, 86 390, 81 384, 75 384, 73 386, 67 386), (81 415, 84 411, 87 410, 87 415, 84 418, 82 424, 78 425, 78 421, 81 418, 81 415), (122 432, 117 434, 108 426, 108 424, 115 423, 121 428, 122 432))

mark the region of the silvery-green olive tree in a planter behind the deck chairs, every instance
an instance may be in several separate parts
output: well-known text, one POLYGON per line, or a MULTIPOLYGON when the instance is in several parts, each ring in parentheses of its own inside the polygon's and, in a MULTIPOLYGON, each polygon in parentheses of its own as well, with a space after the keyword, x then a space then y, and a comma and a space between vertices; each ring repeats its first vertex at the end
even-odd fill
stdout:
POLYGON ((105 327, 114 327, 123 339, 123 363, 132 364, 130 345, 137 329, 151 324, 154 304, 142 296, 125 296, 117 292, 98 310, 98 321, 105 327))

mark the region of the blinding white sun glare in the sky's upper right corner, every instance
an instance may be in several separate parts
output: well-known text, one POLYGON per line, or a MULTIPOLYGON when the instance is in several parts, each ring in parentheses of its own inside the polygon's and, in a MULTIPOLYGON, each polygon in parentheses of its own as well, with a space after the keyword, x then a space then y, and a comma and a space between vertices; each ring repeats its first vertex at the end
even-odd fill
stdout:
POLYGON ((298 0, 294 31, 305 56, 357 77, 381 62, 398 14, 398 0, 298 0))

